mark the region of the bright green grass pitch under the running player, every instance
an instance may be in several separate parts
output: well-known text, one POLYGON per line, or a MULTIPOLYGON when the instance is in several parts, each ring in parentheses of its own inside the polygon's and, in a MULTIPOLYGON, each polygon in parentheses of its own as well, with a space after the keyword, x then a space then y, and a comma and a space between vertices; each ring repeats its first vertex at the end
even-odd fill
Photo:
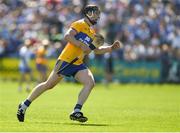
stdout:
POLYGON ((31 104, 24 123, 17 105, 27 93, 0 82, 0 131, 180 131, 180 85, 96 85, 84 105, 89 121, 69 120, 81 85, 62 83, 31 104))

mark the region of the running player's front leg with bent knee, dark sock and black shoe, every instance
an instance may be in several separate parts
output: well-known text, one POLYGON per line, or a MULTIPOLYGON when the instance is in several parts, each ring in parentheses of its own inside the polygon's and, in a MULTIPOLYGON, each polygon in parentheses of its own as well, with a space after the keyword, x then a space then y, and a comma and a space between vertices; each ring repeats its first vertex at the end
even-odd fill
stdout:
POLYGON ((75 79, 83 84, 83 89, 79 93, 77 104, 74 107, 74 111, 70 115, 70 119, 86 122, 87 118, 83 116, 81 108, 95 85, 94 77, 89 69, 84 69, 77 72, 75 79))

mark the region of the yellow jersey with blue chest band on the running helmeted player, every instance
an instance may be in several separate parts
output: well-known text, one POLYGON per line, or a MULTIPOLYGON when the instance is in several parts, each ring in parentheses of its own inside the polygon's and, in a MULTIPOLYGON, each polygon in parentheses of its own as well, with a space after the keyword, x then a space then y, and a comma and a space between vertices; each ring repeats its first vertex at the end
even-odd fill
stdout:
MULTIPOLYGON (((70 28, 77 31, 75 38, 84 45, 92 43, 95 31, 84 21, 84 19, 73 22, 70 28)), ((58 59, 70 63, 76 57, 79 57, 79 59, 74 64, 82 64, 84 59, 83 50, 74 44, 67 43, 58 59)))

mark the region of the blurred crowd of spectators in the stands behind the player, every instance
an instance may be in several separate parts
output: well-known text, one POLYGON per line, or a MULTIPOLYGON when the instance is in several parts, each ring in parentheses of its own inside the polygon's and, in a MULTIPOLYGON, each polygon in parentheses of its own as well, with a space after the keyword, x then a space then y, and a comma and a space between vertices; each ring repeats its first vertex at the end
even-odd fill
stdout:
POLYGON ((97 58, 160 61, 164 76, 173 67, 180 79, 180 0, 0 0, 0 58, 19 57, 25 43, 49 44, 46 56, 57 58, 64 33, 87 3, 102 10, 96 30, 125 45, 97 58))

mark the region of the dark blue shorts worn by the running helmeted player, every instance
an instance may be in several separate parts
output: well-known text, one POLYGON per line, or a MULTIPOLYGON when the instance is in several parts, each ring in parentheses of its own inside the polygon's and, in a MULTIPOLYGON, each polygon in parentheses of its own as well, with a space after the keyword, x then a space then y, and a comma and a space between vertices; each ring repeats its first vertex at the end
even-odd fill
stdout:
MULTIPOLYGON (((58 71, 67 64, 68 62, 58 60, 56 63, 56 66, 60 65, 58 68, 58 71)), ((78 71, 84 70, 84 69, 87 69, 87 66, 85 64, 80 64, 80 65, 72 64, 69 67, 67 67, 67 69, 64 69, 60 74, 64 76, 68 76, 68 77, 71 77, 71 76, 74 77, 78 71)))

